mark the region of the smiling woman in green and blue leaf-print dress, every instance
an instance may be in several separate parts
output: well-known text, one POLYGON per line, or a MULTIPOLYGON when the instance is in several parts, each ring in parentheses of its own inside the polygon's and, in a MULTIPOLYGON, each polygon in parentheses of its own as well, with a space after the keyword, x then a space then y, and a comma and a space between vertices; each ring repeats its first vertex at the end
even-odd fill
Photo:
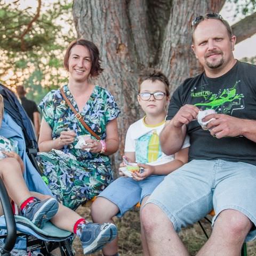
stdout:
POLYGON ((69 72, 69 82, 63 86, 63 92, 100 140, 91 135, 86 145, 76 148, 77 136, 90 132, 76 118, 80 115, 75 116, 60 89, 53 90, 39 105, 43 119, 37 161, 54 196, 75 210, 113 180, 108 155, 118 150, 116 118, 120 111, 106 89, 90 82, 90 77, 103 70, 99 51, 92 42, 84 39, 71 42, 64 66, 69 72))

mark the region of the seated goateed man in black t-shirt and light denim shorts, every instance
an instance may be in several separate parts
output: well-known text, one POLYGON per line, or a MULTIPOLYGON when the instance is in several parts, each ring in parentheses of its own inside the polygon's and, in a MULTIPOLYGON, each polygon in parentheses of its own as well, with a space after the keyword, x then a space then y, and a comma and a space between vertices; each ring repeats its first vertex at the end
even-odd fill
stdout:
POLYGON ((142 210, 150 255, 189 255, 177 231, 212 209, 213 231, 197 255, 240 255, 256 236, 256 67, 234 59, 236 37, 218 13, 192 23, 192 49, 204 73, 174 92, 161 133, 166 155, 190 137, 189 163, 169 174, 142 210), (203 121, 199 110, 214 109, 203 121), (213 119, 212 119, 213 118, 213 119))

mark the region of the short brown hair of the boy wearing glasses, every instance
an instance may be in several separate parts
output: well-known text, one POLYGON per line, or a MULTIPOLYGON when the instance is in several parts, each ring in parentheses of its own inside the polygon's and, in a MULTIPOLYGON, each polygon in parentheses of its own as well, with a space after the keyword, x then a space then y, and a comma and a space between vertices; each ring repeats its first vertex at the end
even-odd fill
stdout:
POLYGON ((154 68, 148 68, 143 70, 140 75, 139 75, 139 79, 138 79, 138 83, 139 83, 139 92, 140 92, 140 85, 142 84, 142 82, 146 81, 146 80, 150 80, 151 82, 155 82, 155 81, 160 81, 164 84, 165 87, 165 93, 166 96, 169 97, 170 96, 170 83, 168 81, 168 78, 159 70, 156 70, 154 68))

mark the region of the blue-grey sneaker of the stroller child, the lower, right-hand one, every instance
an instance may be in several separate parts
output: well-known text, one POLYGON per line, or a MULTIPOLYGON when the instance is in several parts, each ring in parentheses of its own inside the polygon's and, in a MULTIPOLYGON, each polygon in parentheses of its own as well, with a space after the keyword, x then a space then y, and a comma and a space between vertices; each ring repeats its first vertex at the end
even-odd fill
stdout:
POLYGON ((102 249, 117 236, 117 228, 113 223, 88 223, 84 226, 80 237, 84 254, 102 249))

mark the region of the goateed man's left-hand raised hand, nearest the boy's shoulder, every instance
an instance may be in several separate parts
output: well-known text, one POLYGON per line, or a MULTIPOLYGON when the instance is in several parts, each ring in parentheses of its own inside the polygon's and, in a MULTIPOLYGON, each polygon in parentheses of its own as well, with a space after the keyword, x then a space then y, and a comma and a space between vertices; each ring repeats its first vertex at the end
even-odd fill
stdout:
POLYGON ((181 127, 196 119, 199 108, 193 105, 186 104, 180 108, 177 114, 172 118, 174 127, 181 127))

